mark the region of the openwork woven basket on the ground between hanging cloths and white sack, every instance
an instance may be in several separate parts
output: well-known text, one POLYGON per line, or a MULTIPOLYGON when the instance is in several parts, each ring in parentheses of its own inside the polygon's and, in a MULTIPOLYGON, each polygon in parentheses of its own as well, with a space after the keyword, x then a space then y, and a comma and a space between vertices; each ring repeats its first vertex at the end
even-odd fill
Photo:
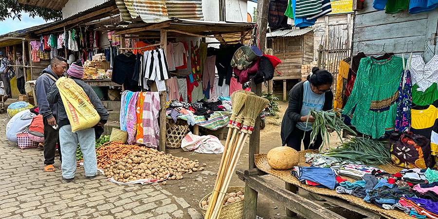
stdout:
POLYGON ((181 147, 181 142, 187 134, 188 126, 184 124, 185 122, 177 121, 177 123, 170 122, 167 120, 166 123, 166 147, 167 148, 179 148, 181 147))

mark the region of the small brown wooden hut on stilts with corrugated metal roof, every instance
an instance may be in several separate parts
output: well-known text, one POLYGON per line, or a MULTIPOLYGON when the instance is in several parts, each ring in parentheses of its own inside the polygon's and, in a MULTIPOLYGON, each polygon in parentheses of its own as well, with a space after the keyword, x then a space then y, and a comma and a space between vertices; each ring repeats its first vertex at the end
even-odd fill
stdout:
POLYGON ((287 80, 301 78, 301 66, 313 61, 313 28, 277 30, 266 34, 267 47, 282 63, 274 81, 283 81, 283 101, 287 101, 287 80))

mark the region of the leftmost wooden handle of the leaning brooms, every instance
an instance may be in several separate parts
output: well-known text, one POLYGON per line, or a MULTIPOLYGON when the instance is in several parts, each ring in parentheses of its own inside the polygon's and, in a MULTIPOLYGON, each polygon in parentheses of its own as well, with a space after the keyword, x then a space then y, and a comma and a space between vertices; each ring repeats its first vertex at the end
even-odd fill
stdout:
MULTIPOLYGON (((227 149, 229 148, 230 151, 226 151, 224 149, 224 153, 222 154, 222 159, 221 159, 221 162, 219 165, 219 170, 218 170, 218 176, 216 177, 216 183, 215 183, 215 187, 213 189, 213 195, 211 197, 210 204, 208 205, 208 209, 207 209, 207 212, 205 213, 204 219, 210 218, 213 207, 217 204, 217 200, 218 200, 217 197, 219 195, 218 194, 219 189, 221 188, 222 182, 224 179, 223 172, 224 172, 224 170, 228 169, 228 165, 229 165, 229 161, 230 161, 230 154, 232 154, 232 152, 234 152, 233 146, 234 146, 234 141, 235 141, 235 138, 237 135, 237 130, 238 130, 237 128, 234 129, 233 136, 231 137, 231 140, 228 142, 228 144, 225 144, 225 147, 227 149), (231 142, 231 147, 229 146, 230 142, 231 142)), ((228 132, 231 132, 230 129, 228 130, 228 132)), ((231 136, 231 133, 229 136, 231 136)), ((228 136, 227 136, 227 138, 228 138, 228 136)))

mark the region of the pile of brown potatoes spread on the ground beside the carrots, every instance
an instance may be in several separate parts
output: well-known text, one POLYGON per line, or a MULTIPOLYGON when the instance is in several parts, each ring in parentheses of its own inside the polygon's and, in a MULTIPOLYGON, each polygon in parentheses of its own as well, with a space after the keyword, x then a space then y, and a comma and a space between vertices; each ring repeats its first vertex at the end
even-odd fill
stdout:
POLYGON ((190 161, 188 158, 175 157, 151 148, 136 151, 118 160, 111 159, 111 162, 112 164, 104 167, 105 176, 113 177, 121 183, 139 179, 164 180, 167 174, 170 174, 169 180, 181 180, 183 173, 204 170, 198 160, 190 161))

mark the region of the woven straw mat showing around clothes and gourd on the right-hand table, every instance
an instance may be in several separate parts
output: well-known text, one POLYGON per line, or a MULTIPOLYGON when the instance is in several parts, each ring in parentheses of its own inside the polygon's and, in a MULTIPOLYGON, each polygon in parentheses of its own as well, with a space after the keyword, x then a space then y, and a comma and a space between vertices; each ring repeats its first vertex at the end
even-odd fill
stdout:
MULTIPOLYGON (((309 150, 300 151, 300 163, 298 164, 299 166, 310 166, 309 164, 305 163, 306 159, 304 158, 304 154, 306 152, 310 152, 310 151, 309 150)), ((268 161, 266 159, 266 154, 256 154, 254 160, 256 162, 257 168, 260 169, 261 171, 266 172, 268 174, 271 174, 277 178, 280 178, 281 180, 283 180, 285 182, 292 183, 295 186, 303 188, 309 192, 313 192, 313 193, 320 194, 320 195, 334 196, 334 197, 344 199, 352 204, 361 206, 361 207, 368 209, 368 210, 375 211, 376 213, 382 215, 383 217, 389 218, 389 219, 412 219, 412 217, 404 214, 402 211, 385 210, 385 209, 378 207, 377 205, 365 202, 363 199, 354 197, 352 195, 338 194, 338 193, 336 193, 336 191, 328 189, 328 188, 318 188, 315 186, 309 186, 306 184, 302 184, 296 179, 296 177, 292 176, 291 170, 276 170, 276 169, 271 168, 271 166, 268 164, 268 161)), ((389 166, 389 165, 388 166, 381 165, 378 167, 385 170, 388 173, 396 173, 396 172, 403 169, 403 168, 389 166)), ((345 178, 345 177, 343 177, 343 178, 345 178)), ((355 180, 352 180, 349 178, 347 178, 347 179, 350 182, 355 181, 355 180)))

